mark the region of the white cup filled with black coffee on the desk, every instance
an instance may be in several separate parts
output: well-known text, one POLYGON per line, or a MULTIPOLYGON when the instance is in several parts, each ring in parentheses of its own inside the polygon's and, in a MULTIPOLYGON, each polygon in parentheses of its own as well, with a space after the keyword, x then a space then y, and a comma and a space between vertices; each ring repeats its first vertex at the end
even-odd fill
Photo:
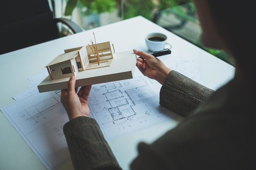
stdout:
POLYGON ((145 42, 148 49, 153 52, 171 49, 171 44, 167 43, 167 36, 163 33, 150 33, 145 36, 145 42))

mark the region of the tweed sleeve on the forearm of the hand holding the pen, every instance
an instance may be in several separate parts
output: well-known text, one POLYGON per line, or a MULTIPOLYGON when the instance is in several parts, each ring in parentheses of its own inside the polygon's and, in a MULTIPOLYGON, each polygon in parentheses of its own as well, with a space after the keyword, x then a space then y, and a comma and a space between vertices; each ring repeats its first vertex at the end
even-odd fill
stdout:
POLYGON ((204 103, 214 91, 189 77, 172 70, 160 90, 160 104, 187 117, 191 111, 204 103))

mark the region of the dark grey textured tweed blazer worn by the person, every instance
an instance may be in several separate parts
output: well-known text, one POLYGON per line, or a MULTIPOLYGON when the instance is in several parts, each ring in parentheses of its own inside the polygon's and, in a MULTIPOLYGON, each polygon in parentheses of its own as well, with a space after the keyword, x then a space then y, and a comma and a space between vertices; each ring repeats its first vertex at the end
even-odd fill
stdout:
MULTIPOLYGON (((132 170, 255 167, 250 164, 256 157, 255 119, 244 114, 248 110, 236 79, 214 92, 171 71, 161 88, 160 104, 187 118, 152 144, 141 142, 132 170)), ((94 119, 77 117, 63 131, 75 170, 121 169, 94 119)))

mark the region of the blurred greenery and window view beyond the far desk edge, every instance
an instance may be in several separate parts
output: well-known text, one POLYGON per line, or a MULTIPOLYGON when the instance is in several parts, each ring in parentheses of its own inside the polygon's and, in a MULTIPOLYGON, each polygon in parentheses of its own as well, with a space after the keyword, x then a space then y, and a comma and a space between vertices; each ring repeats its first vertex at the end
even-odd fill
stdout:
MULTIPOLYGON (((67 18, 84 30, 138 15, 155 22, 234 66, 223 51, 207 49, 200 42, 200 23, 191 0, 48 0, 55 18, 67 18)), ((60 27, 64 35, 70 30, 60 27)))

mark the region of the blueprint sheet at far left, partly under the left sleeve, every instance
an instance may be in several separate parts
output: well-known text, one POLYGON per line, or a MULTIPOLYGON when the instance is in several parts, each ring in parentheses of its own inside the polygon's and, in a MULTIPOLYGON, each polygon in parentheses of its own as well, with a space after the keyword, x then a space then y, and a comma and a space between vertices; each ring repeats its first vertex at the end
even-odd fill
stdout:
POLYGON ((70 160, 62 131, 68 117, 60 102, 61 91, 30 93, 33 87, 1 111, 45 167, 54 170, 70 160))

